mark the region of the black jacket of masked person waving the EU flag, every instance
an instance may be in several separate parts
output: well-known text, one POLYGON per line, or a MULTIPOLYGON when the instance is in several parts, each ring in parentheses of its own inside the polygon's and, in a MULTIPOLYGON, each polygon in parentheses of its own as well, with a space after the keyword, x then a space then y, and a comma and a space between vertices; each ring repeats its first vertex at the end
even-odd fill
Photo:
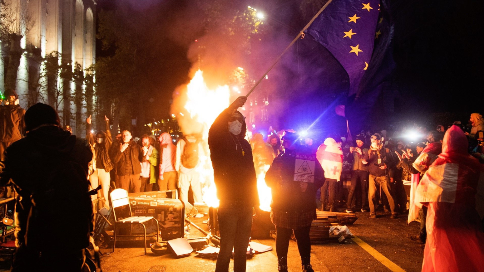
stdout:
POLYGON ((247 201, 258 207, 256 170, 252 149, 244 139, 245 121, 239 135, 228 131, 229 110, 223 111, 209 130, 210 158, 217 197, 221 201, 247 201))

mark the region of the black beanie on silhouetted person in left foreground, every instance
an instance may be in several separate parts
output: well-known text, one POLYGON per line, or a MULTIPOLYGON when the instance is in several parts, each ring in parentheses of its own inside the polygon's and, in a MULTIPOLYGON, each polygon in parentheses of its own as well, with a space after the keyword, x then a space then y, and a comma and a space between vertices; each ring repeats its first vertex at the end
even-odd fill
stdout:
POLYGON ((49 105, 37 103, 25 112, 25 130, 29 131, 39 126, 51 124, 61 127, 61 120, 56 110, 49 105))

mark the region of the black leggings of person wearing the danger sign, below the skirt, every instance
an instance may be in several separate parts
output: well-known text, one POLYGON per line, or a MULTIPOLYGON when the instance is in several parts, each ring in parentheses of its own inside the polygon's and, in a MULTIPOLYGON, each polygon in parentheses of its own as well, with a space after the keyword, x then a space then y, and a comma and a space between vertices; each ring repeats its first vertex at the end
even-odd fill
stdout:
MULTIPOLYGON (((311 241, 309 240, 309 230, 311 226, 294 229, 294 237, 298 243, 299 255, 301 257, 311 256, 311 241)), ((275 226, 275 251, 277 258, 287 257, 287 250, 289 248, 289 239, 291 239, 292 229, 286 229, 275 226)))

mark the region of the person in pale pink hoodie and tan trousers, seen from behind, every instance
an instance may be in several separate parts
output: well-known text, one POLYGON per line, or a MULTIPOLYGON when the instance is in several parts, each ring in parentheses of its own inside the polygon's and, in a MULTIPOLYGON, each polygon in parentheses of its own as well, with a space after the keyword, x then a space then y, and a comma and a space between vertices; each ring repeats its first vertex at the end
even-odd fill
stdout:
POLYGON ((171 141, 171 135, 163 132, 160 134, 160 190, 177 189, 177 172, 175 170, 176 146, 171 141))

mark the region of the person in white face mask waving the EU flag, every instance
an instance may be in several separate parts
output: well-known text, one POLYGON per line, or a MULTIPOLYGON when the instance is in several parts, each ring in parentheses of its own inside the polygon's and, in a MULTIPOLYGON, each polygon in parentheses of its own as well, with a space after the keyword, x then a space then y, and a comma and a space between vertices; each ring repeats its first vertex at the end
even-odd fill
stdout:
POLYGON ((252 227, 252 209, 258 209, 256 170, 250 143, 244 139, 245 117, 237 111, 247 101, 239 97, 209 130, 213 176, 220 204, 217 211, 220 252, 215 272, 228 272, 232 249, 234 272, 244 272, 252 227))

